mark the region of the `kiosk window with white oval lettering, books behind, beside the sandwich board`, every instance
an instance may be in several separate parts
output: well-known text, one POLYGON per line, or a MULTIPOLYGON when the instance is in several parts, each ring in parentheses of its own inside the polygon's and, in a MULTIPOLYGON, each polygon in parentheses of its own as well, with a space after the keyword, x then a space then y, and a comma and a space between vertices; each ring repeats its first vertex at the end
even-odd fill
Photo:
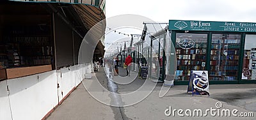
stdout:
POLYGON ((189 80, 191 70, 205 70, 207 34, 177 33, 175 80, 189 80))

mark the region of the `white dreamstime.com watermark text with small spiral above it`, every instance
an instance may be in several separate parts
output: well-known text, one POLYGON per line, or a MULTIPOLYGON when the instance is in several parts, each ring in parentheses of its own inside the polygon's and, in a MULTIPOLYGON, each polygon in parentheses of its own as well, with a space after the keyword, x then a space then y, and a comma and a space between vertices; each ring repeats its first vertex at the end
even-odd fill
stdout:
POLYGON ((170 106, 168 109, 164 110, 165 116, 180 116, 180 117, 253 117, 253 112, 239 112, 237 109, 221 109, 223 107, 220 101, 216 102, 215 104, 216 109, 172 109, 170 106))

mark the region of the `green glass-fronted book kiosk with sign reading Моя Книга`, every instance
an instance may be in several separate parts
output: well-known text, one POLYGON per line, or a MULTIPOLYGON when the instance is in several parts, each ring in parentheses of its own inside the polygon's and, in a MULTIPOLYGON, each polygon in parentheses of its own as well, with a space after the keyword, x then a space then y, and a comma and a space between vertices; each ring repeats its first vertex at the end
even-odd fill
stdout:
POLYGON ((191 70, 207 70, 210 84, 256 83, 256 23, 169 20, 150 40, 150 79, 174 73, 187 85, 191 70))

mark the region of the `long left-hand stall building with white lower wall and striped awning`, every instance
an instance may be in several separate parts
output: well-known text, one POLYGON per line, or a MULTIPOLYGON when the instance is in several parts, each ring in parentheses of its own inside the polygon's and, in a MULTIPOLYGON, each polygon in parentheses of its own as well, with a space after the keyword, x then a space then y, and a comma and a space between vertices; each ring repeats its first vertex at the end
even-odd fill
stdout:
POLYGON ((0 2, 0 119, 45 119, 90 76, 104 12, 104 0, 0 2))

